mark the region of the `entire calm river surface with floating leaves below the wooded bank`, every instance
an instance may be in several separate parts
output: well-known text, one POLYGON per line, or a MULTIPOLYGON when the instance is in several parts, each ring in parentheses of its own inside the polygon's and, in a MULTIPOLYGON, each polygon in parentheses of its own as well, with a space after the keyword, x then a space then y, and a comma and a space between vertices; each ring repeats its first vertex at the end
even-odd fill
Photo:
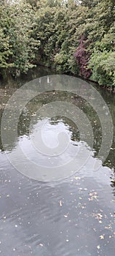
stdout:
MULTIPOLYGON (((26 98, 30 100, 18 118, 17 136, 16 116, 13 115, 17 113, 20 104, 18 100, 14 105, 7 104, 6 119, 9 123, 1 121, 0 255, 2 256, 114 256, 115 95, 100 89, 95 84, 92 86, 81 79, 78 80, 82 91, 87 91, 90 88, 88 86, 91 85, 93 95, 90 95, 89 99, 92 102, 97 102, 93 90, 98 91, 98 97, 99 95, 102 97, 111 113, 111 124, 108 124, 108 114, 106 118, 103 116, 104 108, 101 110, 101 106, 97 104, 95 111, 87 103, 86 98, 84 100, 82 96, 73 94, 71 90, 66 91, 63 79, 66 79, 68 88, 69 78, 63 77, 60 81, 60 76, 56 76, 55 80, 55 71, 38 67, 17 80, 9 78, 7 82, 1 81, 1 118, 4 117, 4 108, 12 94, 25 83, 27 86, 31 85, 29 97, 23 91, 22 102, 25 102, 26 98), (41 78, 43 76, 44 78, 41 78), (55 90, 52 82, 55 82, 55 90), (33 91, 36 90, 38 83, 39 86, 43 83, 44 92, 41 91, 41 94, 35 97, 33 91), (51 86, 49 91, 45 90, 44 83, 45 86, 51 86), (68 110, 70 110, 69 115, 68 110), (84 121, 76 116, 76 110, 82 111, 79 115, 84 113, 84 121), (105 127, 101 124, 98 113, 105 127), (75 116, 76 119, 78 118, 78 125, 74 121, 75 116), (90 120, 88 123, 87 118, 85 120, 86 116, 90 120), (9 124, 9 127, 5 127, 4 124, 9 124), (93 146, 90 145, 91 127, 93 146), (46 145, 44 148, 41 148, 39 137, 41 129, 46 145), (114 131, 113 138, 109 129, 114 131), (98 157, 102 132, 106 140, 106 146, 101 153, 102 159, 106 156, 104 162, 98 157), (59 134, 60 138, 58 138, 59 134), (58 143, 66 147, 61 154, 57 154, 63 149, 61 146, 57 147, 58 143), (47 146, 50 151, 47 151, 47 146), (25 157, 19 148, 22 149, 25 157), (54 148, 57 148, 57 151, 54 151, 54 148), (42 150, 46 150, 46 153, 41 154, 42 150), (88 156, 86 162, 85 156, 88 156), (32 163, 28 168, 27 159, 32 163), (95 161, 100 165, 96 170, 95 161), (35 172, 36 166, 38 172, 35 172)), ((20 91, 18 95, 21 101, 20 91)))

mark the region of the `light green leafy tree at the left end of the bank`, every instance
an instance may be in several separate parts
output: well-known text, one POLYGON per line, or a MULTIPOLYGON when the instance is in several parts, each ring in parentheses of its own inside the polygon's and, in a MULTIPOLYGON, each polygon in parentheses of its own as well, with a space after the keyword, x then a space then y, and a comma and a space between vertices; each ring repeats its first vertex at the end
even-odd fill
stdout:
POLYGON ((7 4, 1 7, 0 67, 20 75, 33 67, 39 42, 33 38, 34 12, 30 5, 7 4))

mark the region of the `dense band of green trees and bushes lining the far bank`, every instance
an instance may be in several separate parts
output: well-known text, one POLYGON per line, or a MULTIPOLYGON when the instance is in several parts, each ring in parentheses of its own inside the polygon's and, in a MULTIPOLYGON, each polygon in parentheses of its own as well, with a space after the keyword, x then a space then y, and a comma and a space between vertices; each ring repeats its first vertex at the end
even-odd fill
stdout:
POLYGON ((44 64, 115 86, 114 0, 0 3, 2 75, 44 64))

